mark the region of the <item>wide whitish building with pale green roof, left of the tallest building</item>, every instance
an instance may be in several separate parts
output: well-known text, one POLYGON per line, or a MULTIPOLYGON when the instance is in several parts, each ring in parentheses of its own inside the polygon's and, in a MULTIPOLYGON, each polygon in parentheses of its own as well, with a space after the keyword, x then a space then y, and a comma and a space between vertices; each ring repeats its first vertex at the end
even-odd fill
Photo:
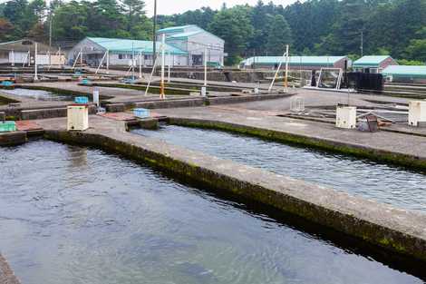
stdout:
MULTIPOLYGON (((156 50, 160 52, 161 43, 156 43, 156 50)), ((121 38, 86 37, 76 44, 68 54, 68 59, 73 62, 82 52, 83 62, 93 66, 101 63, 102 58, 108 56, 110 65, 142 64, 152 65, 153 42, 121 38), (136 61, 136 63, 135 63, 136 61)), ((176 46, 166 44, 166 64, 188 65, 188 53, 176 46)), ((104 63, 106 59, 104 59, 104 63)))

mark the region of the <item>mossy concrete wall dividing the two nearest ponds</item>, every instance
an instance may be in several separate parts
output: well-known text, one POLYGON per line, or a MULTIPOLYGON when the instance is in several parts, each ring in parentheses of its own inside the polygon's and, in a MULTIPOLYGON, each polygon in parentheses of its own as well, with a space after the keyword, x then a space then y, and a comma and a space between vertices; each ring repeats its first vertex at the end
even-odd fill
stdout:
MULTIPOLYGON (((189 181, 198 181, 208 188, 230 192, 386 250, 426 260, 426 218, 418 213, 128 132, 103 128, 89 132, 47 130, 44 135, 57 142, 90 145, 120 153, 189 181)), ((274 135, 271 132, 271 136, 274 135)))

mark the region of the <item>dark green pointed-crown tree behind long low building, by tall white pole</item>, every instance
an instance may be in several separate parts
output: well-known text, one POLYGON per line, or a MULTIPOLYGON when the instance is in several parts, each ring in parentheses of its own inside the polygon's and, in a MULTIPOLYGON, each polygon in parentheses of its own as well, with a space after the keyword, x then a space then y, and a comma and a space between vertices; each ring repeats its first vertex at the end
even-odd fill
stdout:
POLYGON ((292 43, 290 26, 282 15, 276 15, 267 37, 268 54, 284 54, 286 44, 292 43))

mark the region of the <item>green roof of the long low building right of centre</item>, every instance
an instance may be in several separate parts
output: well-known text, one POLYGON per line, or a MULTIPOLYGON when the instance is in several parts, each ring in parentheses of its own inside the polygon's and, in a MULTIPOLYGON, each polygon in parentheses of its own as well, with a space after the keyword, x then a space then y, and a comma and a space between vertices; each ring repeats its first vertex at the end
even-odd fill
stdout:
MULTIPOLYGON (((346 56, 290 56, 289 63, 292 65, 333 65, 339 60, 346 58, 346 56)), ((241 64, 279 64, 280 61, 286 62, 286 58, 282 56, 256 56, 250 57, 242 61, 241 64)))

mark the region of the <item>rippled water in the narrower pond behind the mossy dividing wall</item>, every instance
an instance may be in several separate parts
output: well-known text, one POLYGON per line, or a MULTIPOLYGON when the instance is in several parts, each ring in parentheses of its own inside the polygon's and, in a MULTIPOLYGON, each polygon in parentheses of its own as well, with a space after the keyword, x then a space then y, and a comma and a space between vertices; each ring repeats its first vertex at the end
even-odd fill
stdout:
POLYGON ((397 207, 426 211, 426 177, 419 172, 227 132, 174 125, 133 132, 397 207))

